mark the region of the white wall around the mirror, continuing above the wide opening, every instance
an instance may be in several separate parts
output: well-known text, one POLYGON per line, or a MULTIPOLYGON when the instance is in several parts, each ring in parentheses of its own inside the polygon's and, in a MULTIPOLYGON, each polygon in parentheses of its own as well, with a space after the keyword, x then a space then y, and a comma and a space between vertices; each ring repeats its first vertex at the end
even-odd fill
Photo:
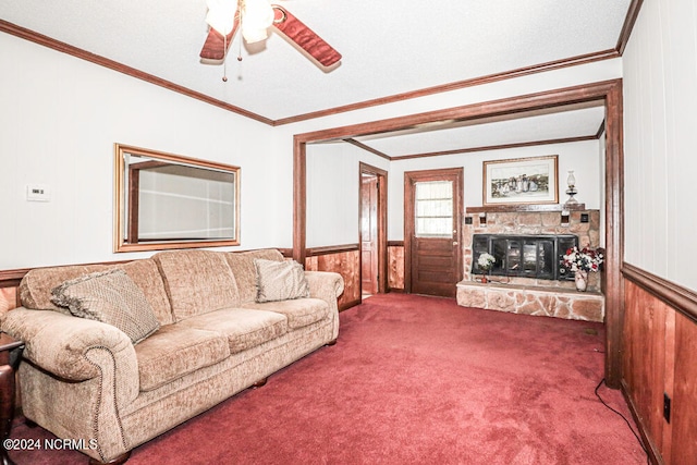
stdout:
MULTIPOLYGON (((114 143, 242 167, 239 248, 290 247, 294 134, 606 81, 622 73, 619 59, 606 60, 270 127, 5 34, 0 34, 0 211, 8 218, 0 228, 0 269, 149 255, 111 252, 114 143), (26 201, 29 183, 49 184, 51 201, 26 201)), ((380 159, 372 158, 378 161, 367 162, 380 167, 380 159)), ((355 164, 355 173, 347 173, 357 176, 355 164)), ((588 201, 582 180, 579 188, 579 198, 588 201)), ((356 210, 351 234, 357 234, 357 188, 354 195, 355 201, 346 204, 353 203, 356 210)), ((467 195, 468 205, 472 197, 467 195)), ((308 245, 345 243, 343 227, 327 231, 308 245)), ((400 237, 400 225, 391 224, 390 231, 392 238, 400 237), (392 235, 395 231, 399 234, 392 235)))

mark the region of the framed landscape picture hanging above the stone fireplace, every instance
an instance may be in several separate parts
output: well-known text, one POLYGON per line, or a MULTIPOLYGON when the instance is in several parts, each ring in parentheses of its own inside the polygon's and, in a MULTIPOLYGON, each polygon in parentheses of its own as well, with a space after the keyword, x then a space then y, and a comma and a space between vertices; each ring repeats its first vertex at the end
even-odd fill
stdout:
POLYGON ((558 204, 558 156, 484 162, 482 204, 558 204))

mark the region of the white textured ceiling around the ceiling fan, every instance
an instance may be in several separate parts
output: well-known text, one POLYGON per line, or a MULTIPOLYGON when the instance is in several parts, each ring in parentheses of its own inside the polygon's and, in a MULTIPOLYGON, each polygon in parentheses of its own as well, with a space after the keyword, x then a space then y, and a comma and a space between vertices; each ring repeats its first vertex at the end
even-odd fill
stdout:
POLYGON ((255 50, 237 34, 224 66, 204 64, 205 0, 2 0, 0 19, 280 120, 614 49, 631 0, 278 3, 343 54, 339 66, 320 70, 278 34, 255 50))

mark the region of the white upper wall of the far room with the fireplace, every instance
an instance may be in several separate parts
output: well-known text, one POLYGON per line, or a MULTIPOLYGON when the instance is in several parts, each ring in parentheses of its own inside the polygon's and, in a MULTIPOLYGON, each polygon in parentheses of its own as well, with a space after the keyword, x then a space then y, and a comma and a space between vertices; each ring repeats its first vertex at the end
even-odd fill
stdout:
MULTIPOLYGON (((358 242, 358 162, 389 171, 388 240, 404 240, 404 172, 439 168, 464 168, 464 206, 482 204, 482 162, 509 158, 559 156, 559 200, 568 197, 566 176, 574 170, 576 199, 588 209, 600 209, 602 151, 599 140, 575 142, 504 150, 488 150, 443 157, 387 161, 351 144, 317 144, 307 147, 307 246, 358 242), (370 157, 372 157, 370 159, 370 157)), ((603 221, 604 223, 604 221, 603 221)), ((604 241, 603 241, 604 242, 604 241)))

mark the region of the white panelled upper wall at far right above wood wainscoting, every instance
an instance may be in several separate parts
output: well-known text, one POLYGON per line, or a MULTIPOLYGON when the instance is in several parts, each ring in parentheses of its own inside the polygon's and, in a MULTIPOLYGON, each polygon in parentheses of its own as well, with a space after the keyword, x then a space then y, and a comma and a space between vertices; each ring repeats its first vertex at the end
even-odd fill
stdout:
POLYGON ((697 290, 694 0, 646 0, 623 64, 625 260, 697 290))

